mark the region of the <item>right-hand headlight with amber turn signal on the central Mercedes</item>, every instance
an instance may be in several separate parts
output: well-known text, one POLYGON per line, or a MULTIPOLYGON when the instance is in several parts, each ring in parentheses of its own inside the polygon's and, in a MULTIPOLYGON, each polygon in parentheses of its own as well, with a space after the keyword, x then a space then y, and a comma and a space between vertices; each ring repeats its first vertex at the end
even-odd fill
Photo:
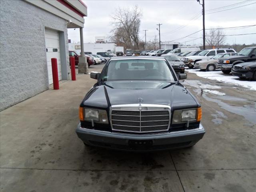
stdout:
POLYGON ((202 109, 184 109, 175 110, 172 117, 172 124, 186 123, 186 122, 196 122, 200 121, 202 118, 202 109))

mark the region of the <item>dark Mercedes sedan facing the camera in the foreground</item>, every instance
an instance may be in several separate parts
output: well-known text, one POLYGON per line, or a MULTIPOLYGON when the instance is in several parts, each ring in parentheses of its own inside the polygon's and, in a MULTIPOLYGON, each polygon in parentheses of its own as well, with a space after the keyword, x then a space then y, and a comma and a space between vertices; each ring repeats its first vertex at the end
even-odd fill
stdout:
POLYGON ((112 57, 80 104, 86 146, 153 151, 193 146, 205 133, 201 106, 162 57, 112 57))

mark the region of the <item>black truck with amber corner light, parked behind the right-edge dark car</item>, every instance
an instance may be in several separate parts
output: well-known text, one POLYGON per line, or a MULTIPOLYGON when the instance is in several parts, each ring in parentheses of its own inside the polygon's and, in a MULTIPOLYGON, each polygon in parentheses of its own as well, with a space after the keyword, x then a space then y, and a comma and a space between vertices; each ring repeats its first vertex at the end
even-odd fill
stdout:
POLYGON ((256 60, 256 47, 246 47, 243 48, 238 55, 230 56, 223 59, 218 60, 218 68, 224 74, 229 74, 234 65, 244 62, 250 62, 256 60))

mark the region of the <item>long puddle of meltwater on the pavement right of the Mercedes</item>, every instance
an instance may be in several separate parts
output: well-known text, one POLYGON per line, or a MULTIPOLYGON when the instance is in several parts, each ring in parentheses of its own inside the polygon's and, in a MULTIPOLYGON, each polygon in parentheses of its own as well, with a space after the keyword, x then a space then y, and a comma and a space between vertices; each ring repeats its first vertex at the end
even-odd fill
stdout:
POLYGON ((254 124, 256 124, 256 103, 254 107, 244 107, 244 106, 231 106, 229 104, 224 103, 219 99, 214 99, 208 97, 205 93, 202 94, 203 98, 207 101, 214 102, 218 104, 222 109, 227 110, 228 112, 244 116, 244 118, 254 124))

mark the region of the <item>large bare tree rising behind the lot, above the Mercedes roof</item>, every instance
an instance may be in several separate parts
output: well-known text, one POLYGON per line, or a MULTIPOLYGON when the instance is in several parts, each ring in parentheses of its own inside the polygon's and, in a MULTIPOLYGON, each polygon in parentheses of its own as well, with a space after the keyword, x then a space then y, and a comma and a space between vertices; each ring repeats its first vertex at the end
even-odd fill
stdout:
MULTIPOLYGON (((134 49, 139 48, 139 30, 142 11, 138 6, 133 8, 118 8, 111 16, 112 25, 111 40, 123 42, 126 47, 134 45, 134 49)), ((131 47, 130 47, 131 48, 131 47)))

